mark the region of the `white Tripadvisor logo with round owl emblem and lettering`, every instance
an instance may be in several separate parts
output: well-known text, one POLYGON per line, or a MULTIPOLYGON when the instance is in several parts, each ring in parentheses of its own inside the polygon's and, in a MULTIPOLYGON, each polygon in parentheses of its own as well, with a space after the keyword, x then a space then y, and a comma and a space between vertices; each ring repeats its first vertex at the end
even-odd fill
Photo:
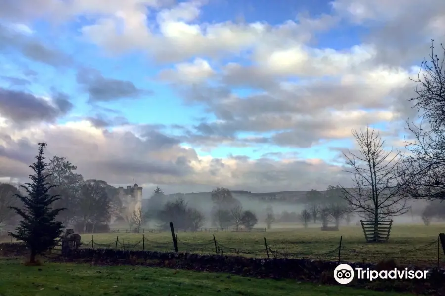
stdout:
POLYGON ((375 279, 426 279, 428 270, 408 270, 408 268, 398 270, 394 268, 392 270, 370 270, 369 268, 363 269, 356 267, 355 270, 348 264, 340 264, 334 269, 334 279, 337 283, 346 285, 352 282, 354 274, 356 273, 357 279, 366 279, 372 281, 375 279))

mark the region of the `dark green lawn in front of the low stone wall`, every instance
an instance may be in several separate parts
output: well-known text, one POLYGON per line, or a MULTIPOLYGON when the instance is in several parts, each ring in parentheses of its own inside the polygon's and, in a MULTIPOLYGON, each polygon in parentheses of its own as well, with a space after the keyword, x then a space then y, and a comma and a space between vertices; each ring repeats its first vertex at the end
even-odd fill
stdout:
POLYGON ((45 263, 24 266, 0 259, 1 296, 396 296, 407 295, 320 286, 292 280, 250 279, 134 266, 45 263))

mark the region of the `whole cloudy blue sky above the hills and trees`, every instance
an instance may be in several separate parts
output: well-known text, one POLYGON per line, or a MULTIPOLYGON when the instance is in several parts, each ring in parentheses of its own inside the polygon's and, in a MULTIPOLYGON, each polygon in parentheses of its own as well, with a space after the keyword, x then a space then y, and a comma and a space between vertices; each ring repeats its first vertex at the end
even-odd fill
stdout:
POLYGON ((403 146, 432 39, 443 0, 6 0, 0 181, 45 142, 147 194, 348 185, 352 129, 403 146))

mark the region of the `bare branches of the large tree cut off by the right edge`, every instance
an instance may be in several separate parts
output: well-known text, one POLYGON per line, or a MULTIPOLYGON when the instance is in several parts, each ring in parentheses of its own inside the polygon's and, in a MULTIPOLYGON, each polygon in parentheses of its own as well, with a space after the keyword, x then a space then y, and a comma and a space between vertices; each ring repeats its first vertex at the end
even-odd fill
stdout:
POLYGON ((419 112, 419 121, 407 120, 414 137, 405 140, 410 153, 403 159, 399 183, 409 198, 445 200, 445 49, 422 62, 417 79, 417 96, 408 99, 419 112))

